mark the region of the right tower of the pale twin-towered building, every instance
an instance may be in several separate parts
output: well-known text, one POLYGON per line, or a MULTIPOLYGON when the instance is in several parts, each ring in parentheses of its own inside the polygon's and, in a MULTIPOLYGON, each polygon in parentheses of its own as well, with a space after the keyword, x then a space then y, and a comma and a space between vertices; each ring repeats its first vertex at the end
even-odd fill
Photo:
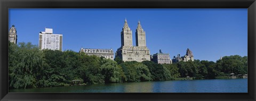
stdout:
POLYGON ((140 25, 140 21, 138 22, 138 26, 135 34, 136 34, 136 46, 146 47, 146 34, 140 25))

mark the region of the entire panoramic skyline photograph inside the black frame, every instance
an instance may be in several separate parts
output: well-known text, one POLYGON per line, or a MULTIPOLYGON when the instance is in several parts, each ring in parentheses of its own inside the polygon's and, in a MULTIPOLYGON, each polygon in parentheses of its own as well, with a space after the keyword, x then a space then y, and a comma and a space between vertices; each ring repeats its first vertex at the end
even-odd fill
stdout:
POLYGON ((247 9, 9 9, 9 92, 247 93, 247 9))

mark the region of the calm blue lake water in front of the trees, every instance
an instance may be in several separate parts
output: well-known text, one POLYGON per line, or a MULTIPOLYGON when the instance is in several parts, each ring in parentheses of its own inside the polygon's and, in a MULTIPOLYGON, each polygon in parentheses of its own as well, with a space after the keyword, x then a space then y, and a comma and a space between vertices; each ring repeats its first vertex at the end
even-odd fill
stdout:
POLYGON ((11 89, 9 92, 247 92, 247 79, 177 80, 11 89))

